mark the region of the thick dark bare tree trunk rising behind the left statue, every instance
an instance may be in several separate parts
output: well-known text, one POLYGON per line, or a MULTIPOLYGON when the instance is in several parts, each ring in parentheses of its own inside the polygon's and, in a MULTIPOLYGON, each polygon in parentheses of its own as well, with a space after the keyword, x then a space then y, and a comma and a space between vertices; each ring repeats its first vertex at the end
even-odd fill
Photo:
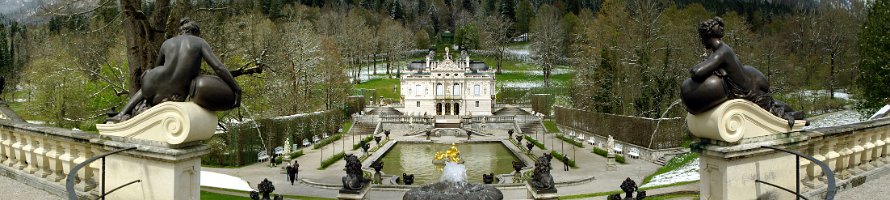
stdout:
POLYGON ((142 12, 142 0, 120 0, 124 15, 123 29, 127 38, 127 62, 129 63, 129 90, 135 94, 142 88, 142 73, 153 68, 158 49, 164 42, 170 0, 156 0, 151 16, 142 12))

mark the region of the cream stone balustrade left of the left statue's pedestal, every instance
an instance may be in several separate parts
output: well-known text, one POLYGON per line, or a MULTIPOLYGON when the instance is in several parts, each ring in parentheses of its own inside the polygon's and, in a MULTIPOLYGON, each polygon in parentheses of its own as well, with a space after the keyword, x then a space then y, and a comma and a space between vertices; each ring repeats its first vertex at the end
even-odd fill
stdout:
MULTIPOLYGON (((98 134, 0 120, 0 172, 19 182, 64 195, 68 172, 105 152, 98 134)), ((80 170, 75 189, 82 198, 99 195, 101 163, 80 170)))

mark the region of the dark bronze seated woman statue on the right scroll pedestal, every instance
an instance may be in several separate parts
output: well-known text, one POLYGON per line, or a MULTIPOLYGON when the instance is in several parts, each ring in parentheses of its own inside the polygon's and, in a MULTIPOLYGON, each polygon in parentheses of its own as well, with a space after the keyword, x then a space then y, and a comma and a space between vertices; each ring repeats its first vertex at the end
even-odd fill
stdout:
POLYGON ((769 81, 760 71, 742 65, 731 47, 724 44, 723 19, 714 17, 698 25, 702 45, 711 51, 708 58, 689 69, 691 77, 683 81, 680 98, 686 111, 699 114, 730 99, 753 102, 775 116, 788 120, 802 120, 803 113, 791 109, 788 104, 774 100, 770 95, 769 81))

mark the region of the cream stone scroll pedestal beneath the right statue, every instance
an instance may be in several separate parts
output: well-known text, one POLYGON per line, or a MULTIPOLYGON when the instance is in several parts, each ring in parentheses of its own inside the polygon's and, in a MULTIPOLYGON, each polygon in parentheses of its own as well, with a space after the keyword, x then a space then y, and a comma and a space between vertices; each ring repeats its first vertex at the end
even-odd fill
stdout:
POLYGON ((697 115, 688 114, 689 131, 700 138, 701 199, 793 199, 769 182, 795 188, 795 156, 761 148, 797 149, 796 135, 805 122, 792 127, 747 100, 734 99, 697 115))

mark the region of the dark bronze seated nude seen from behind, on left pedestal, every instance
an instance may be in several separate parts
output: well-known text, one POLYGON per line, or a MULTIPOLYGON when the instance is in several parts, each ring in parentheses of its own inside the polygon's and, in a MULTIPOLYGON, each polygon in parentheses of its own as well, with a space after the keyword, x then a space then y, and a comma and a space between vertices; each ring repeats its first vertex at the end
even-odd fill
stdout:
POLYGON ((200 38, 198 24, 183 18, 180 35, 161 45, 155 68, 142 74, 142 88, 136 91, 121 112, 106 122, 125 121, 154 105, 191 100, 201 107, 220 111, 240 106, 241 88, 223 63, 213 54, 210 45, 200 38), (200 75, 201 61, 217 76, 200 75))

